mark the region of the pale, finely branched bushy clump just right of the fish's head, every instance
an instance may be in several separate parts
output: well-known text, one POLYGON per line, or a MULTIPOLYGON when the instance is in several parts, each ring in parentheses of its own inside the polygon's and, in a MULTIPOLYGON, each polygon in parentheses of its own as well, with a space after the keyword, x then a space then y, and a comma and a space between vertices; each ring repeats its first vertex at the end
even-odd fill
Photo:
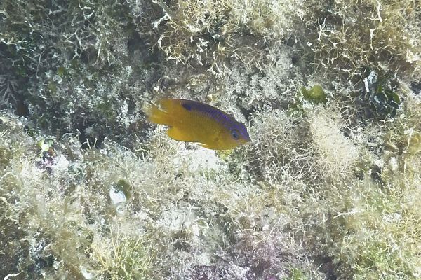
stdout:
POLYGON ((248 165, 260 179, 273 180, 283 174, 282 169, 288 169, 295 176, 324 181, 338 174, 349 175, 359 158, 355 144, 342 132, 345 125, 332 109, 319 107, 309 111, 307 118, 294 121, 286 113, 273 111, 258 116, 255 122, 261 152, 251 147, 253 161, 248 165))

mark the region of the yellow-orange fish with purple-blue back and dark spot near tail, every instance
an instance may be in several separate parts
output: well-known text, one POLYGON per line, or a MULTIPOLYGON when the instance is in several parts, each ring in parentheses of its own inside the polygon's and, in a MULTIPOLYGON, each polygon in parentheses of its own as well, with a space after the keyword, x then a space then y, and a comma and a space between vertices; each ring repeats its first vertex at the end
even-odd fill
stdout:
POLYGON ((150 122, 167 125, 167 134, 213 150, 231 150, 251 141, 246 125, 208 104, 188 99, 161 99, 145 111, 150 122))

